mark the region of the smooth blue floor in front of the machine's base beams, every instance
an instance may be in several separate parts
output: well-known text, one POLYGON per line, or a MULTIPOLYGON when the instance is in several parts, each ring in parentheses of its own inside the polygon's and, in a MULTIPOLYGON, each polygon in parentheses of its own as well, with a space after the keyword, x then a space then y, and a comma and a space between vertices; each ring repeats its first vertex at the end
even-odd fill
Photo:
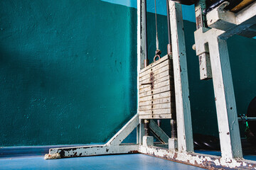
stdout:
POLYGON ((198 170, 176 162, 150 157, 144 154, 119 154, 97 157, 78 157, 67 159, 44 160, 42 156, 8 157, 0 159, 0 169, 121 169, 121 170, 198 170))

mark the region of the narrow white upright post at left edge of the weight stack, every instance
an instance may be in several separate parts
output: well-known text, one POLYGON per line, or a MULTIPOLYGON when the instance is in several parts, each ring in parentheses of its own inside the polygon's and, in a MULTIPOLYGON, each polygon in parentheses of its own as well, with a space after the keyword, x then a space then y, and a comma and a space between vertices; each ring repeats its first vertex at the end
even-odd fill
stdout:
MULTIPOLYGON (((146 18, 142 13, 144 9, 145 0, 137 0, 137 113, 139 113, 139 71, 144 68, 145 57, 145 32, 144 23, 146 18)), ((144 124, 139 121, 137 127, 137 143, 142 144, 142 137, 144 136, 144 124)))

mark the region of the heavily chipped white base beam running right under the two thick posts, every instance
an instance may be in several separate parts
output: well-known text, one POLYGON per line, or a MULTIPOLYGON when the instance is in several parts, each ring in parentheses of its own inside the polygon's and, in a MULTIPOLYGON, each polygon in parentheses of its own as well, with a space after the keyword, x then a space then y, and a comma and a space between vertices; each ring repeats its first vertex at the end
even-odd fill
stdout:
POLYGON ((245 159, 223 159, 207 154, 196 154, 194 152, 181 153, 160 147, 144 147, 142 145, 139 146, 139 152, 153 157, 207 169, 256 169, 256 162, 245 159))

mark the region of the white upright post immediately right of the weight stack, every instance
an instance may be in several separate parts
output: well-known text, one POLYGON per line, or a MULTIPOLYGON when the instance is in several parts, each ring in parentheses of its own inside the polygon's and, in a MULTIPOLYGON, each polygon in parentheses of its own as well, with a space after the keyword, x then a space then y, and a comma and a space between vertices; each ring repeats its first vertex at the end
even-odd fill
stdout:
POLYGON ((188 72, 182 9, 181 4, 176 4, 171 0, 169 0, 169 8, 174 61, 178 152, 193 152, 193 132, 191 125, 191 106, 188 91, 188 72))

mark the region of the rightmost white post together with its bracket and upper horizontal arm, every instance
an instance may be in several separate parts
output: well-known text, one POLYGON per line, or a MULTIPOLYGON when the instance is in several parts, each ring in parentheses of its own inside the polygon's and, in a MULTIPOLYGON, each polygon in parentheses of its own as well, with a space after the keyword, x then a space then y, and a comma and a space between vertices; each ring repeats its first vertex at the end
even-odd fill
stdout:
POLYGON ((200 28, 195 32, 196 55, 210 53, 220 148, 222 159, 225 160, 242 158, 238 114, 226 39, 235 34, 245 35, 247 28, 256 23, 256 2, 238 13, 225 11, 224 8, 227 5, 228 2, 224 2, 207 14, 208 26, 212 29, 200 28))

